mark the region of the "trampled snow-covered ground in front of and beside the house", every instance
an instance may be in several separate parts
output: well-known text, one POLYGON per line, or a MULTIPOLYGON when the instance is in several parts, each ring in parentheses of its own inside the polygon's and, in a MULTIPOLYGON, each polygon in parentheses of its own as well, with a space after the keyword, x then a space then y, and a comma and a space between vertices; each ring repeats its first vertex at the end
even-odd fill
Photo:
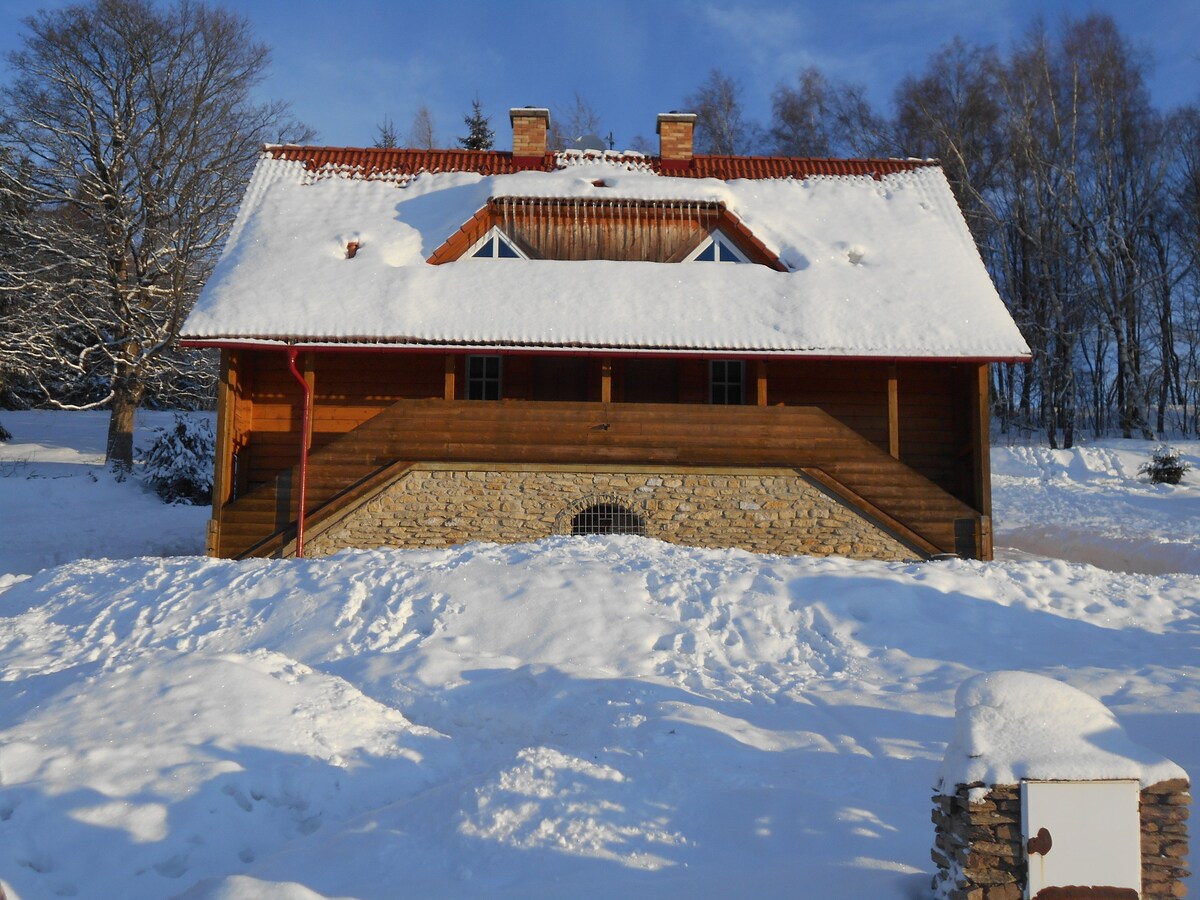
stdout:
POLYGON ((0 424, 10 898, 923 898, 955 690, 1000 670, 1200 772, 1200 473, 1140 481, 1150 444, 998 448, 990 564, 233 563, 112 481, 104 416, 0 424))

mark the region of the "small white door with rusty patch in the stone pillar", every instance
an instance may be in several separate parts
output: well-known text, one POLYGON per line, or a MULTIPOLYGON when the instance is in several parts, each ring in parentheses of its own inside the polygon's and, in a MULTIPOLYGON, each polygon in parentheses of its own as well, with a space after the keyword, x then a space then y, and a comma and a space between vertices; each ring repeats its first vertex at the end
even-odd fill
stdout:
POLYGON ((1124 888, 1141 896, 1138 799, 1136 781, 1022 781, 1027 900, 1052 887, 1124 888))

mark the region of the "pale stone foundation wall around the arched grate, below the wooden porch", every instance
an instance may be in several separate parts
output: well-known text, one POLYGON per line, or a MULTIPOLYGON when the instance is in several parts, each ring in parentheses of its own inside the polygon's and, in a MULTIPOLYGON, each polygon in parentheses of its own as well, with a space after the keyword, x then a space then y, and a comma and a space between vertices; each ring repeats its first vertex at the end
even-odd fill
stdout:
POLYGON ((310 530, 306 551, 538 540, 569 534, 571 516, 596 502, 619 503, 640 515, 649 538, 689 546, 859 559, 918 557, 787 469, 533 472, 428 463, 409 469, 328 527, 310 530))

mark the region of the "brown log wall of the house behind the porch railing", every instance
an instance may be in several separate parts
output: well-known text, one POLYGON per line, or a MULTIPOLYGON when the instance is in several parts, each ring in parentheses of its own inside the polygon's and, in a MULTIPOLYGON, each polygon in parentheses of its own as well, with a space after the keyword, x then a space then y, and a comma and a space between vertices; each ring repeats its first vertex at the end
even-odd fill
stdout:
MULTIPOLYGON (((466 358, 437 353, 331 352, 301 354, 299 365, 313 385, 311 446, 320 449, 401 398, 466 395, 466 358)), ((287 354, 226 352, 224 414, 218 490, 240 496, 299 461, 301 390, 287 354)), ((504 356, 506 400, 601 400, 599 356, 504 356)), ((618 403, 708 402, 708 360, 614 358, 612 400, 618 403)), ((970 505, 990 512, 985 475, 976 455, 980 426, 979 366, 935 362, 810 361, 766 362, 769 406, 818 407, 884 451, 970 505), (895 400, 889 402, 889 378, 895 400)), ((746 403, 758 400, 758 366, 746 362, 746 403)))

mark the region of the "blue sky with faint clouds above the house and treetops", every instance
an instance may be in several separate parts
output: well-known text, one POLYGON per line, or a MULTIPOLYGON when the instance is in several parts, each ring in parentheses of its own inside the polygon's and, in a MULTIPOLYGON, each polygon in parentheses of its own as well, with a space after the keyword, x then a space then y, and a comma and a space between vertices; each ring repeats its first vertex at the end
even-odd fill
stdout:
MULTIPOLYGON (((0 50, 17 46, 20 19, 62 2, 0 0, 0 50)), ((510 145, 508 109, 571 106, 599 113, 618 146, 642 134, 656 146, 655 115, 682 108, 716 67, 743 86, 748 114, 766 121, 770 94, 816 65, 863 83, 887 107, 896 83, 919 72, 955 35, 1008 47, 1042 14, 1112 14, 1154 59, 1160 108, 1200 101, 1196 0, 499 0, 382 2, 242 0, 229 4, 272 48, 264 96, 288 100, 325 144, 370 144, 390 116, 403 137, 416 108, 434 115, 440 143, 466 133, 478 94, 497 148, 510 145)))

